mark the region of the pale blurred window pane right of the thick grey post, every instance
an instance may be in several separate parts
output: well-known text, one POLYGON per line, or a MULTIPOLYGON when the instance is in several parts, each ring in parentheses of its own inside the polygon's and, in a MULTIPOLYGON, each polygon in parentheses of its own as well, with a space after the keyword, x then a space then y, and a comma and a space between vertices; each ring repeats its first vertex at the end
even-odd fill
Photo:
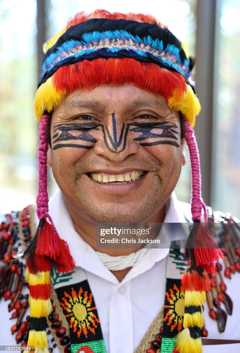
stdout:
POLYGON ((220 1, 216 51, 213 207, 240 215, 240 2, 220 1))

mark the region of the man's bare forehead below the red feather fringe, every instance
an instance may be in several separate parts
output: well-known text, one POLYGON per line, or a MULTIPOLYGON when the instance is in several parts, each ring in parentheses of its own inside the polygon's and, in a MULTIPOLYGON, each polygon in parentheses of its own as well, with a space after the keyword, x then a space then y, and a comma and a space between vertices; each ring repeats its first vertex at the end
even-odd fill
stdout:
POLYGON ((142 90, 133 85, 97 86, 88 90, 76 90, 68 94, 55 111, 90 108, 104 111, 106 109, 137 110, 154 108, 169 112, 166 99, 159 94, 142 90))

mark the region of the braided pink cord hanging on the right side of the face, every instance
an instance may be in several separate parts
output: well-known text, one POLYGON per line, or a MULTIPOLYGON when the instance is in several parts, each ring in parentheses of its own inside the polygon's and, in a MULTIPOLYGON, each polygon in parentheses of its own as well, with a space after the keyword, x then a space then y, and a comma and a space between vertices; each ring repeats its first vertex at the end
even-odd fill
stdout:
POLYGON ((200 159, 196 137, 193 129, 191 128, 190 122, 184 119, 185 126, 185 139, 187 142, 188 153, 190 157, 191 164, 191 212, 192 219, 199 220, 202 215, 202 209, 204 211, 204 222, 207 222, 207 211, 206 205, 203 202, 201 195, 201 171, 200 171, 200 159))

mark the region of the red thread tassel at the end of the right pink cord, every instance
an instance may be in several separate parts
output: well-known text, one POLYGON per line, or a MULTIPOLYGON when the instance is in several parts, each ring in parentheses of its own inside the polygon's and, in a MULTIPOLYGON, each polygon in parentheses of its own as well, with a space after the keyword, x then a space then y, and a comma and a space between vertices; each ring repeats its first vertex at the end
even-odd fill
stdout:
POLYGON ((218 261, 220 257, 223 258, 223 253, 208 228, 202 223, 195 223, 193 227, 196 265, 203 267, 218 261))

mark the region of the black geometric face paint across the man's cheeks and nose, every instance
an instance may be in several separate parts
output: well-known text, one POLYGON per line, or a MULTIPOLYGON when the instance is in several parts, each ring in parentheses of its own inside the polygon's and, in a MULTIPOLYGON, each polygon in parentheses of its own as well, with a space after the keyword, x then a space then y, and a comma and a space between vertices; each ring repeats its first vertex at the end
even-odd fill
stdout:
POLYGON ((120 131, 117 131, 115 114, 112 113, 112 127, 104 126, 95 122, 71 122, 57 124, 54 127, 53 149, 62 147, 76 147, 91 149, 92 146, 82 144, 84 142, 96 143, 97 139, 93 136, 95 131, 101 131, 107 149, 113 153, 120 153, 126 147, 127 136, 133 132, 138 136, 133 138, 139 141, 140 146, 154 146, 168 144, 180 147, 178 144, 178 127, 167 121, 161 122, 132 122, 122 124, 120 131), (112 134, 110 131, 112 130, 112 134), (71 133, 72 132, 72 133, 71 133), (74 133, 73 133, 74 132, 74 133), (81 144, 74 143, 81 141, 81 144))

